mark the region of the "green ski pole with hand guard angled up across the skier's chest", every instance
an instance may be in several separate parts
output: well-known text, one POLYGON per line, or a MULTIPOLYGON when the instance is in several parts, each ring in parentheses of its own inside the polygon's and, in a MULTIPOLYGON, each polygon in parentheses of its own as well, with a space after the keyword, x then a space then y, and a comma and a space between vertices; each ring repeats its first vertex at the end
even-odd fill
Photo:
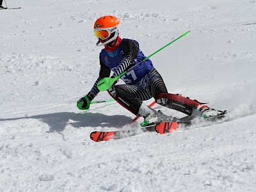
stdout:
MULTIPOLYGON (((145 58, 144 60, 140 61, 140 63, 142 63, 143 61, 147 60, 148 58, 154 56, 154 54, 156 54, 159 51, 162 51, 165 47, 168 47, 170 44, 172 44, 173 42, 179 40, 180 38, 182 38, 182 36, 187 36, 188 33, 190 31, 187 31, 185 33, 183 33, 181 36, 179 36, 178 38, 176 38, 175 40, 173 40, 172 42, 170 42, 167 45, 164 45, 164 47, 162 47, 161 49, 158 49, 156 52, 150 54, 150 56, 148 56, 147 58, 145 58)), ((129 68, 128 70, 125 70, 124 72, 122 72, 122 74, 120 74, 119 76, 116 77, 105 77, 103 79, 100 79, 100 81, 97 83, 98 89, 101 92, 104 92, 106 90, 108 90, 109 88, 111 88, 111 86, 113 85, 113 83, 115 83, 115 81, 117 81, 118 79, 120 79, 120 77, 124 76, 124 74, 126 74, 127 72, 131 71, 134 67, 136 67, 137 65, 140 65, 140 63, 137 63, 136 65, 132 66, 131 68, 129 68)))

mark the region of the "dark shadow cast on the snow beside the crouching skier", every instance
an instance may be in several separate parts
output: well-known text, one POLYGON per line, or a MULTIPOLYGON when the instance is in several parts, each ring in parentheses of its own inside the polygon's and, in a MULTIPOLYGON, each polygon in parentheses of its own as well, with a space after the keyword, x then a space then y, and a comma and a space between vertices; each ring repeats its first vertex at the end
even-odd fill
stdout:
POLYGON ((72 127, 122 127, 131 122, 132 118, 125 115, 108 116, 101 113, 51 113, 20 118, 0 118, 0 121, 35 118, 48 124, 49 132, 62 132, 67 125, 72 127))

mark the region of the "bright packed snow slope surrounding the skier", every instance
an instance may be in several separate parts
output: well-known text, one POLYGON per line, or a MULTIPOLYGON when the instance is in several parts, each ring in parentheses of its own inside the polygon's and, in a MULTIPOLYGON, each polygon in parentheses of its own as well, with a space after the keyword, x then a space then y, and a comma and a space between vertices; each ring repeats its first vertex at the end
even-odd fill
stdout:
POLYGON ((0 10, 0 191, 255 191, 255 0, 6 3, 22 8, 0 10), (146 56, 191 31, 151 60, 170 93, 227 117, 91 141, 134 118, 116 102, 76 108, 99 74, 93 24, 102 15, 118 17, 120 36, 146 56))

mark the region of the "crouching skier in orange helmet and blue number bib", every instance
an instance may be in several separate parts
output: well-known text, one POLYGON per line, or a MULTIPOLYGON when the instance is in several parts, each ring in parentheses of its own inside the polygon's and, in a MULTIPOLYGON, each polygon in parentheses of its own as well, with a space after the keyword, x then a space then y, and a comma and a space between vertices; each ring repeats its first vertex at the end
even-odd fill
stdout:
MULTIPOLYGON (((100 79, 109 77, 111 70, 114 72, 112 77, 118 76, 146 58, 136 40, 120 38, 119 24, 119 20, 111 15, 100 17, 94 24, 95 36, 98 39, 96 45, 104 45, 99 56, 100 72, 92 90, 77 101, 77 108, 79 109, 90 108, 90 102, 100 92, 97 83, 100 79)), ((108 93, 134 115, 143 116, 144 122, 147 122, 148 125, 161 121, 159 112, 142 102, 142 100, 148 100, 152 97, 157 104, 175 109, 186 115, 207 118, 223 114, 223 111, 211 109, 197 100, 168 93, 161 75, 153 67, 152 61, 148 59, 127 72, 121 79, 126 84, 113 85, 109 88, 108 93)))

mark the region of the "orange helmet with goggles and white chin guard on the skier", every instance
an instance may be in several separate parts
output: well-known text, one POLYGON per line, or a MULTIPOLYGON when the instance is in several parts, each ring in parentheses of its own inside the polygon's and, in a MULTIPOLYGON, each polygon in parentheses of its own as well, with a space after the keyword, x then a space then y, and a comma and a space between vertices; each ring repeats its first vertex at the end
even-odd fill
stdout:
POLYGON ((115 40, 119 34, 118 25, 119 25, 119 20, 115 16, 106 15, 97 19, 94 24, 94 33, 97 39, 99 38, 106 39, 106 38, 109 38, 109 36, 111 38, 108 41, 104 42, 104 44, 100 44, 100 45, 99 45, 100 41, 98 41, 96 45, 97 46, 106 45, 109 42, 112 42, 113 40, 115 40))

